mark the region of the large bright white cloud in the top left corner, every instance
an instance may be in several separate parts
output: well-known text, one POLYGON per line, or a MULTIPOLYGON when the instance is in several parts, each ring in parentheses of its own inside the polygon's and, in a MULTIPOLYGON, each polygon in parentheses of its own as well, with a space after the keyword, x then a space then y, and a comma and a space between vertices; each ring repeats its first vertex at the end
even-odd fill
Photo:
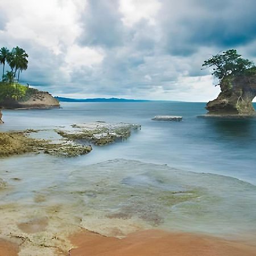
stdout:
POLYGON ((60 54, 81 34, 78 20, 85 3, 72 0, 1 1, 0 9, 5 9, 8 19, 5 35, 14 42, 30 40, 51 49, 56 55, 60 54))

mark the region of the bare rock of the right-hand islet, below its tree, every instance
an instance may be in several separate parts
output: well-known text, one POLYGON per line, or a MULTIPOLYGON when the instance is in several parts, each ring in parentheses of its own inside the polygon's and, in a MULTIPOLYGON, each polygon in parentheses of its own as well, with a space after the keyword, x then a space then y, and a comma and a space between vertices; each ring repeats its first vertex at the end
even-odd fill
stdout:
POLYGON ((228 76, 220 82, 221 93, 207 103, 208 115, 256 115, 251 103, 256 96, 256 75, 228 76))

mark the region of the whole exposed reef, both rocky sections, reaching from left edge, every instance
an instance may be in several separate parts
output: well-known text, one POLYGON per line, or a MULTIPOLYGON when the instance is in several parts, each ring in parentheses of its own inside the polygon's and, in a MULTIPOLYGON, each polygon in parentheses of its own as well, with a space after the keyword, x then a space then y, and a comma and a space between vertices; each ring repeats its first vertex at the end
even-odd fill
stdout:
POLYGON ((131 135, 131 131, 136 129, 141 129, 141 126, 129 123, 95 122, 71 125, 55 131, 28 129, 0 132, 0 158, 32 152, 62 157, 85 155, 92 151, 92 146, 88 146, 89 143, 105 145, 126 139, 131 135), (47 133, 50 133, 51 137, 43 136, 47 133))

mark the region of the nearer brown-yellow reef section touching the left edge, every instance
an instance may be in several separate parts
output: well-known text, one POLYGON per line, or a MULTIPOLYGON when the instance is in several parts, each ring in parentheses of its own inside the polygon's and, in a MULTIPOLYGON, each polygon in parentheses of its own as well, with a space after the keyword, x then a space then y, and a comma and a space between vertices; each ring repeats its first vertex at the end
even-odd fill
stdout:
POLYGON ((0 157, 20 155, 30 152, 73 157, 89 153, 90 146, 82 146, 73 142, 52 143, 44 139, 35 139, 28 136, 31 130, 0 133, 0 157))

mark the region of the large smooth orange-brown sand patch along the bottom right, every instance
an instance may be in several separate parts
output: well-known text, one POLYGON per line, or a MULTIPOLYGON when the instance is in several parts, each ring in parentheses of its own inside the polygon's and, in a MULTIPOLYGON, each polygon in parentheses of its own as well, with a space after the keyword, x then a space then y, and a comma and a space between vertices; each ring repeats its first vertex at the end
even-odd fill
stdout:
POLYGON ((255 256, 256 245, 162 230, 135 232, 119 240, 91 232, 72 236, 71 256, 255 256))

